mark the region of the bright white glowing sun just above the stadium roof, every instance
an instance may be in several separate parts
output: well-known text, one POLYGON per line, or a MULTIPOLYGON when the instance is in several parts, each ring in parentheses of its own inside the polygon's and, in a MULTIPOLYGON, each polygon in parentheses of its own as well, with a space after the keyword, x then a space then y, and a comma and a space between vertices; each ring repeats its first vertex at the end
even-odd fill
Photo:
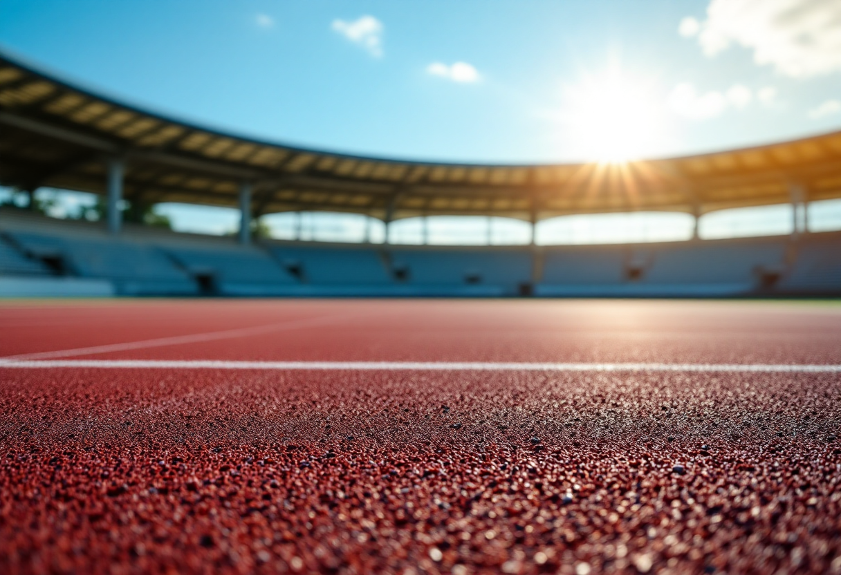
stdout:
POLYGON ((613 70, 585 76, 564 96, 563 124, 587 160, 637 160, 663 143, 663 112, 652 82, 613 70))

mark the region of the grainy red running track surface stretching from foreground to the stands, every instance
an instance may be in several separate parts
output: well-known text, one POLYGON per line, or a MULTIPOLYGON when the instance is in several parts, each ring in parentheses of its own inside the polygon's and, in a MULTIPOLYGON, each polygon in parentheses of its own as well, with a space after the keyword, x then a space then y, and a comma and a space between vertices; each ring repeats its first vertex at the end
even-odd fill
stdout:
MULTIPOLYGON (((0 307, 0 356, 841 364, 784 303, 0 307), (282 322, 292 322, 284 326, 282 322)), ((841 375, 0 368, 0 572, 841 572, 841 375)))

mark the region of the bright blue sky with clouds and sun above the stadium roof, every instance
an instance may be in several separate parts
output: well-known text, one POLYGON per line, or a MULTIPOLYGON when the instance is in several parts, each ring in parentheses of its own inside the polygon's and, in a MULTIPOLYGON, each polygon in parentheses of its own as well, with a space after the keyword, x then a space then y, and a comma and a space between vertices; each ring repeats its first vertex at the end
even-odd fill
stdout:
POLYGON ((837 0, 0 0, 0 44, 270 140, 576 161, 841 128, 838 18, 837 0))

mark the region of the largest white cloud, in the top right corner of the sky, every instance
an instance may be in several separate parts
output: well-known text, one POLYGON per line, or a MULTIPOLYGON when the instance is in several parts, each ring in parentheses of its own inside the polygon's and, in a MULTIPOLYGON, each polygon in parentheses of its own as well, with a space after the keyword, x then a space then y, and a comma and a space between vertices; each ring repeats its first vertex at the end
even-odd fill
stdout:
POLYGON ((711 0, 706 20, 684 18, 679 32, 697 35, 708 56, 742 45, 753 50, 758 65, 774 66, 785 76, 841 70, 838 0, 711 0))

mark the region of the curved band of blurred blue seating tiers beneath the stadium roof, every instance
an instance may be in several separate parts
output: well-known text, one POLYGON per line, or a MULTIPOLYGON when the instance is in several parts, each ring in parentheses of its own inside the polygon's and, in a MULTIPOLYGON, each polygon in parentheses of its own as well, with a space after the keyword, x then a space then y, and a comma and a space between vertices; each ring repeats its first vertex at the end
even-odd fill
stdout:
POLYGON ((0 210, 0 279, 100 282, 97 293, 119 295, 841 295, 839 248, 839 233, 537 248, 240 245, 132 224, 114 236, 97 223, 0 210))

